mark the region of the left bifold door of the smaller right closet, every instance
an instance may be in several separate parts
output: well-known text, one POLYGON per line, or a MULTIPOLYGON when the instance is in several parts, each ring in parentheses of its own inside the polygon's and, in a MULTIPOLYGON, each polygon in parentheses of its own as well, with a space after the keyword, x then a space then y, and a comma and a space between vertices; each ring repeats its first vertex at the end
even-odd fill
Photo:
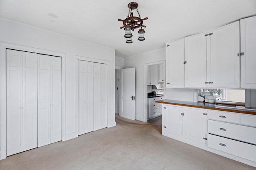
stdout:
POLYGON ((94 63, 78 60, 78 135, 94 130, 94 63))

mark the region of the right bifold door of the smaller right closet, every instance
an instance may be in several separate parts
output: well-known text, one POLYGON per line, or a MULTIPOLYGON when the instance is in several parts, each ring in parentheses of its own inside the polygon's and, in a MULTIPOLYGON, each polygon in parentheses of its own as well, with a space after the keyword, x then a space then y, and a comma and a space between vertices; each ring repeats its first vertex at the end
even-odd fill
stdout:
POLYGON ((107 65, 94 63, 94 131, 107 127, 107 65))

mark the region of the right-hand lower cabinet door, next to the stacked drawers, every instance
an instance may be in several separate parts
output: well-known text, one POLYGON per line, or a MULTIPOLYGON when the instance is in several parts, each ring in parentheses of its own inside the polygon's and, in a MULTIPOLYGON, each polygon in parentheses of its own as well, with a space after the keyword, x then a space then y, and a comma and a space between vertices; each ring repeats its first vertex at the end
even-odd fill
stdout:
POLYGON ((204 110, 182 108, 182 136, 200 143, 205 143, 205 115, 204 110))

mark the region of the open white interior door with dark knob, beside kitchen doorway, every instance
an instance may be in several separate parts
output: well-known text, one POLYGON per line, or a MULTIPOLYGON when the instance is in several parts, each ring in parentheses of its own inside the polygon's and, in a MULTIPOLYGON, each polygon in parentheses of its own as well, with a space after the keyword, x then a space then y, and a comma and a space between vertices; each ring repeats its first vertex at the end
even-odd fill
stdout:
POLYGON ((120 71, 120 116, 135 120, 135 68, 120 71))

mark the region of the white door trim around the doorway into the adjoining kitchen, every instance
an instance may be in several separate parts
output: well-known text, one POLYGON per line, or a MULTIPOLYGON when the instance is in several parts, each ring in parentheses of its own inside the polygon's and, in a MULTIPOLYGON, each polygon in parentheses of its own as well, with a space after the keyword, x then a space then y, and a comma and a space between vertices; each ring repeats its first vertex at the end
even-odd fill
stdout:
MULTIPOLYGON (((144 122, 148 121, 148 66, 154 65, 154 64, 162 64, 162 63, 164 64, 163 69, 165 72, 165 60, 144 64, 144 122)), ((164 82, 165 82, 165 76, 164 76, 164 82)), ((164 92, 165 92, 165 83, 163 85, 164 85, 164 92)))

